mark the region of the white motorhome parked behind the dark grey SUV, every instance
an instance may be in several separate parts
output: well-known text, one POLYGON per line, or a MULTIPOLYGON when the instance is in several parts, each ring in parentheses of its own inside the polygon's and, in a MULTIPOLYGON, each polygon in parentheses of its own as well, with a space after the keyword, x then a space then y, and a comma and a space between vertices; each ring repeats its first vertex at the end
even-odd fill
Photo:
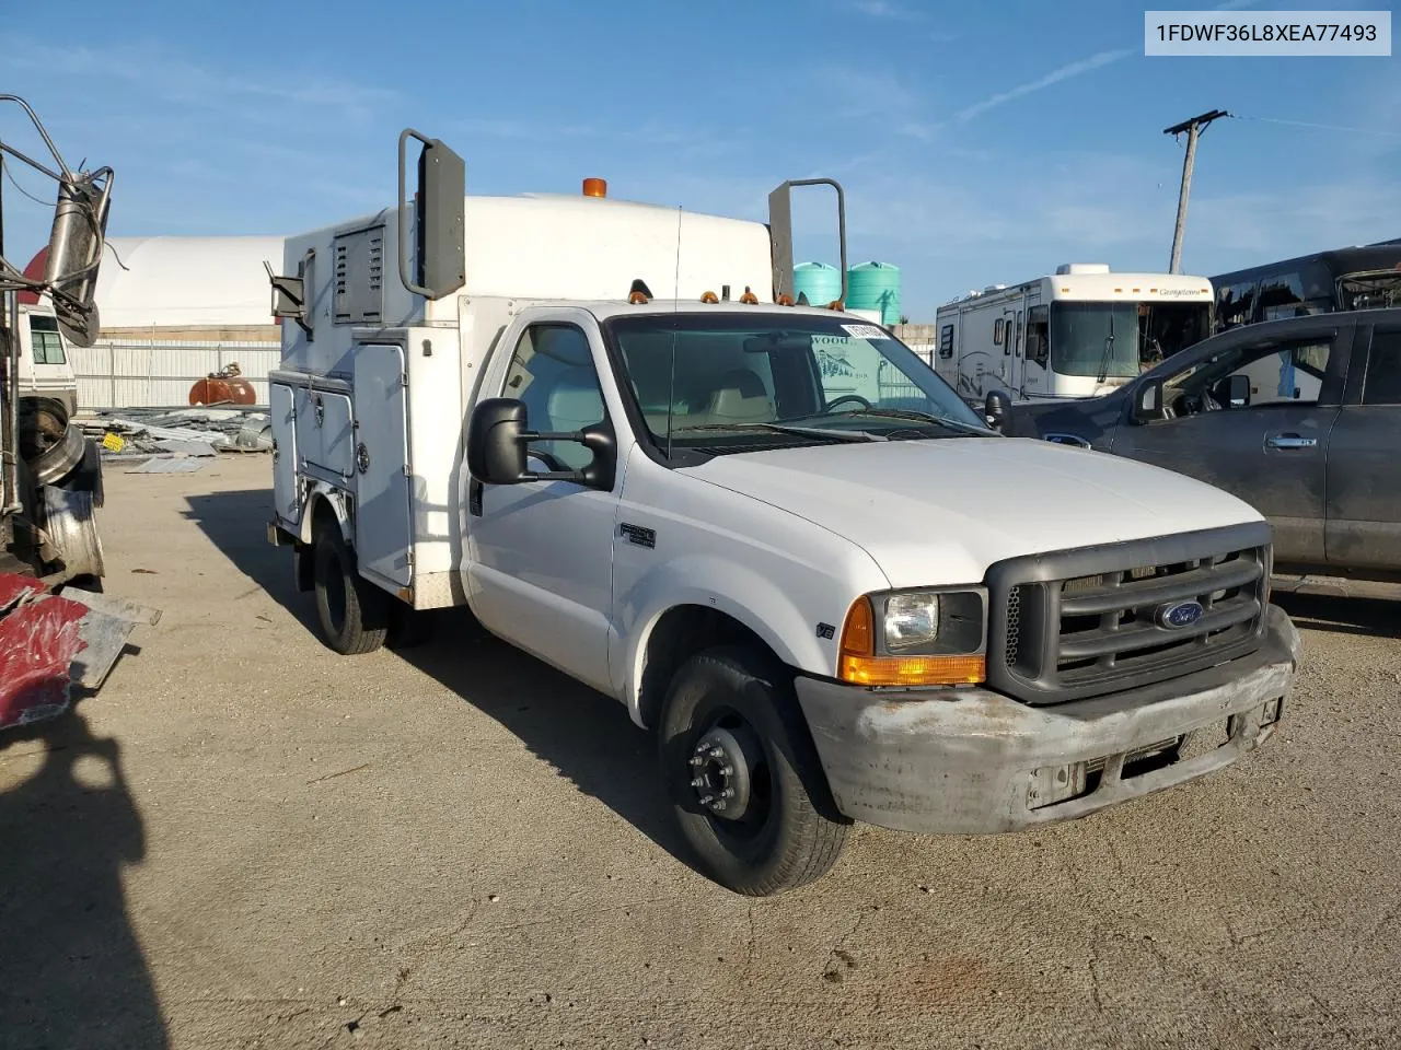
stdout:
POLYGON ((968 402, 1093 398, 1210 335, 1205 277, 1065 263, 939 308, 934 370, 968 402))

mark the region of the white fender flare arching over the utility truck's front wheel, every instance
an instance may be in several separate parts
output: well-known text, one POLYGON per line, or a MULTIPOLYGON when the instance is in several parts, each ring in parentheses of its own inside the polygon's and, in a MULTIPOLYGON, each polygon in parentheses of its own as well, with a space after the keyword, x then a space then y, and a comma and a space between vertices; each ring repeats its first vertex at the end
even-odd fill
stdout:
MULTIPOLYGON (((832 589, 832 588, 825 588, 832 589)), ((855 595, 852 595, 855 598, 855 595)), ((640 686, 647 644, 661 617, 678 606, 716 609, 757 634, 787 666, 831 676, 836 666, 835 638, 821 638, 818 620, 841 624, 845 605, 800 608, 754 567, 713 554, 686 554, 658 564, 636 585, 615 598, 618 617, 609 627, 612 679, 628 714, 643 725, 640 686), (835 617, 835 619, 834 619, 835 617)))

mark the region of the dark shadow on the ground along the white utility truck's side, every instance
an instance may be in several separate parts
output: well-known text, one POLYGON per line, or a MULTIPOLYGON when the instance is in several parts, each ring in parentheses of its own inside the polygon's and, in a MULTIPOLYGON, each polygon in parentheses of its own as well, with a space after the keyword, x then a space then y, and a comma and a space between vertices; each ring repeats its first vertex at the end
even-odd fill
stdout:
MULTIPOLYGON (((268 489, 186 497, 186 518, 249 580, 317 634, 291 552, 266 539, 268 489)), ((486 634, 465 609, 432 615, 433 638, 395 655, 495 718, 576 788, 692 867, 661 791, 654 743, 622 704, 486 634)), ((356 659, 347 657, 346 659, 356 659)))

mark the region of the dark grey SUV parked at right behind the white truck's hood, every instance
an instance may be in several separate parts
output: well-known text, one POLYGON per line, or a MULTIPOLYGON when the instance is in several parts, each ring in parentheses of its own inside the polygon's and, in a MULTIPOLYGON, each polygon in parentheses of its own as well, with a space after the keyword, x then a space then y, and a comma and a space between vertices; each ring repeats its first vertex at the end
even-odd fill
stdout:
POLYGON ((1241 497, 1276 573, 1401 582, 1401 308, 1231 329, 1103 398, 1017 406, 1003 431, 1241 497))

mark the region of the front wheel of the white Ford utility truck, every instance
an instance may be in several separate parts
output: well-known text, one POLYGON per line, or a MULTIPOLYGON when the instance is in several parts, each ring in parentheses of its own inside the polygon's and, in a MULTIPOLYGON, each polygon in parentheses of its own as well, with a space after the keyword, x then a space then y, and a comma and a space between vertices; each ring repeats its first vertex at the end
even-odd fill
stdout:
POLYGON ((762 897, 836 862, 848 822, 776 661, 731 647, 692 657, 667 693, 658 742, 681 833, 716 882, 762 897))

